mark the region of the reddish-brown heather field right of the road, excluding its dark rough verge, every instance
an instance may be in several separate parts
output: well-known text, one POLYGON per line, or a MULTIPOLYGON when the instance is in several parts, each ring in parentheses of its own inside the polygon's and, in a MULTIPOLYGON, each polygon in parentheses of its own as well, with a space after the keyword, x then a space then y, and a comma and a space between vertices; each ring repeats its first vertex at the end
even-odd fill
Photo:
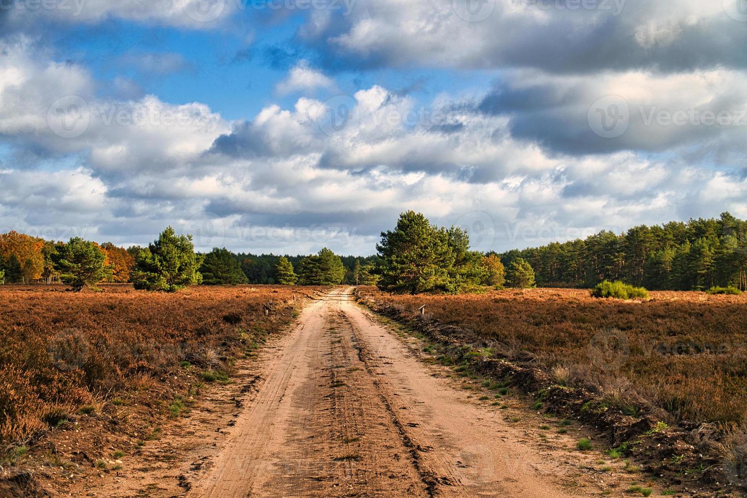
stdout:
POLYGON ((651 292, 621 301, 588 290, 402 296, 359 287, 359 295, 405 318, 426 305, 426 320, 465 329, 498 357, 561 367, 572 383, 613 401, 648 402, 685 422, 747 426, 747 294, 651 292))

